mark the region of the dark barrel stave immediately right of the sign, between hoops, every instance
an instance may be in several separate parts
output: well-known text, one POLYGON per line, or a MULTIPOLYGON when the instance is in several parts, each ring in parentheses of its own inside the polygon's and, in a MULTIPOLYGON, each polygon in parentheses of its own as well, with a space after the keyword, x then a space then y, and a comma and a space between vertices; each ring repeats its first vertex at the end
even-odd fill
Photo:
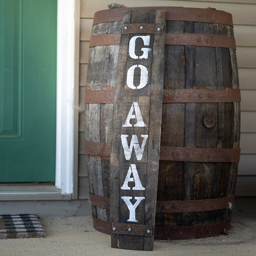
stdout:
MULTIPOLYGON (((183 21, 166 22, 166 33, 183 31, 183 21)), ((185 88, 184 61, 184 46, 165 46, 165 89, 185 88)), ((184 147, 184 121, 185 104, 163 104, 161 146, 184 147)), ((158 200, 182 200, 183 167, 183 162, 160 162, 158 200)), ((179 226, 181 213, 158 213, 156 221, 160 226, 179 226)))

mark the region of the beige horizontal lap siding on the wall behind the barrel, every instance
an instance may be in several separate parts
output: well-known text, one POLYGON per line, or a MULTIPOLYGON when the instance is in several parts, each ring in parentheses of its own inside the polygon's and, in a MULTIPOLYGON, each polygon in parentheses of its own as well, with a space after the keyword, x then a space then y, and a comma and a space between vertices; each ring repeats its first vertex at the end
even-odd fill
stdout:
MULTIPOLYGON (((80 97, 79 97, 79 198, 88 198, 88 177, 84 156, 84 104, 89 40, 96 11, 107 9, 108 0, 81 0, 80 20, 80 97)), ((120 0, 119 4, 135 6, 208 6, 232 14, 237 46, 239 86, 241 89, 241 158, 238 165, 237 196, 256 196, 256 3, 255 0, 171 1, 120 0)))

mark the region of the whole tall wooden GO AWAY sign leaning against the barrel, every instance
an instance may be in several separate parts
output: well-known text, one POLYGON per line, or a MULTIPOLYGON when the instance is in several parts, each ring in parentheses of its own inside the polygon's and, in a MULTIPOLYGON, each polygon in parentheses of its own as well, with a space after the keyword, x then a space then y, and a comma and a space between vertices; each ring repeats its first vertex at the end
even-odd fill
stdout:
POLYGON ((152 250, 161 135, 165 11, 124 12, 111 134, 111 246, 152 250))

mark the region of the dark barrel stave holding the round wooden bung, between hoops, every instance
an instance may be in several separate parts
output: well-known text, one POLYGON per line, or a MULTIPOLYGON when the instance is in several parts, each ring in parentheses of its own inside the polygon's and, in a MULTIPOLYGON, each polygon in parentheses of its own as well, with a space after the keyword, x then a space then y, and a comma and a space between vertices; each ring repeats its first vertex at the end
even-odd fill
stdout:
MULTIPOLYGON (((213 24, 196 23, 196 33, 214 34, 213 24)), ((217 68, 215 48, 196 47, 195 49, 195 84, 198 87, 217 88, 217 68)), ((205 115, 212 115, 218 120, 217 103, 197 104, 197 140, 198 148, 217 147, 217 124, 212 128, 204 126, 205 115)), ((214 198, 215 163, 195 163, 194 199, 214 198)), ((195 224, 206 224, 215 221, 215 215, 209 213, 195 213, 195 224)))

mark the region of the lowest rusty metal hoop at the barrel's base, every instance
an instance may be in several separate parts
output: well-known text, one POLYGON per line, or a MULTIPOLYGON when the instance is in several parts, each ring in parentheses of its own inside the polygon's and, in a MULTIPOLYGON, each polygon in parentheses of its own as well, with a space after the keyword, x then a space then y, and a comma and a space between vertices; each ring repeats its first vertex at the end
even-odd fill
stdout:
MULTIPOLYGON (((105 234, 111 234, 111 223, 109 221, 104 221, 102 219, 97 219, 93 217, 93 226, 96 230, 103 232, 105 234)), ((196 239, 202 237, 217 236, 223 233, 224 230, 228 230, 230 227, 230 219, 227 221, 207 224, 207 225, 197 225, 197 226, 165 226, 155 227, 154 239, 196 239)))

